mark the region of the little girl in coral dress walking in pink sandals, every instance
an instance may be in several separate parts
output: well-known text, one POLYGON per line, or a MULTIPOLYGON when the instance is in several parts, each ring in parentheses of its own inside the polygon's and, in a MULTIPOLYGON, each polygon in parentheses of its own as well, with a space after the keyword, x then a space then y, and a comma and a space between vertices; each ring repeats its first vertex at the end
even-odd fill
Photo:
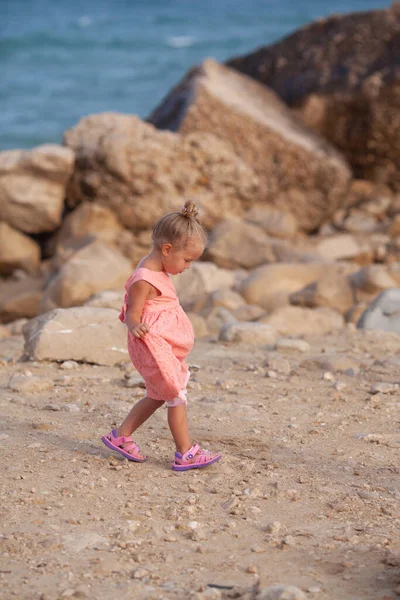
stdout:
POLYGON ((167 402, 168 424, 176 445, 175 471, 207 467, 221 458, 192 444, 187 414, 185 358, 193 348, 193 327, 179 304, 170 275, 183 273, 204 252, 207 235, 187 201, 180 212, 162 217, 153 229, 153 247, 125 284, 120 319, 128 327, 128 350, 142 375, 147 395, 132 408, 122 425, 102 437, 106 446, 129 460, 146 456, 131 438, 167 402))

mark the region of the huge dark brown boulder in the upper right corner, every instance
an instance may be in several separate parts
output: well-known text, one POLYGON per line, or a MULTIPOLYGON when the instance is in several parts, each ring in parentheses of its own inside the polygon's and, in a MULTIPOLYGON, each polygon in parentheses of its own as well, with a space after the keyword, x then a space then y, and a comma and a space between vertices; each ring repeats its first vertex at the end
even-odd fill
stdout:
POLYGON ((400 7, 319 19, 228 62, 272 88, 348 158, 400 189, 400 7))

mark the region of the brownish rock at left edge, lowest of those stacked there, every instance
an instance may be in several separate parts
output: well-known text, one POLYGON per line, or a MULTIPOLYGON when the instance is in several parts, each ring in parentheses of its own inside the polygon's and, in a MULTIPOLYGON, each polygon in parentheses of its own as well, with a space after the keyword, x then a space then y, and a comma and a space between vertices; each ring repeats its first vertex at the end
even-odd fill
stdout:
POLYGON ((43 297, 43 288, 44 281, 41 278, 26 277, 19 281, 1 281, 0 323, 36 317, 43 297))

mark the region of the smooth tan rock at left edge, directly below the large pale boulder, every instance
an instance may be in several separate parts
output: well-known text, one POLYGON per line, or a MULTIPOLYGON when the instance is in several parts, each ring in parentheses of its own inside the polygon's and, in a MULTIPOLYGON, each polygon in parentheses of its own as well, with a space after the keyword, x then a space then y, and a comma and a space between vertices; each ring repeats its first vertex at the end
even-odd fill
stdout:
POLYGON ((10 275, 15 269, 35 272, 39 265, 39 245, 7 223, 0 222, 0 275, 10 275))

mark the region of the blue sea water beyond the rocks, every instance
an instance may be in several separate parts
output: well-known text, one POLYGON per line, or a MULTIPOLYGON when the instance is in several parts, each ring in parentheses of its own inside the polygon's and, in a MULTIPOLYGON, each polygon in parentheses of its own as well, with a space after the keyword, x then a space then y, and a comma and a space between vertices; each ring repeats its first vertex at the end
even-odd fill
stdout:
POLYGON ((333 12, 389 0, 0 0, 0 149, 61 142, 88 114, 142 118, 223 61, 333 12))

